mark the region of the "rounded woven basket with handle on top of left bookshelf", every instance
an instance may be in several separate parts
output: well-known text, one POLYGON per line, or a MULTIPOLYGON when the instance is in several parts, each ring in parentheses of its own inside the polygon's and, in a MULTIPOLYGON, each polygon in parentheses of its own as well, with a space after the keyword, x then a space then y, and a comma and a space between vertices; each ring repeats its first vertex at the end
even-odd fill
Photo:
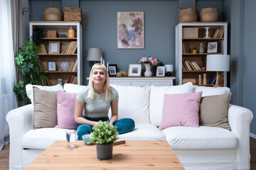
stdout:
POLYGON ((63 14, 60 8, 56 8, 55 5, 51 2, 48 2, 47 5, 52 4, 53 8, 45 8, 43 11, 43 20, 44 21, 63 21, 63 14))

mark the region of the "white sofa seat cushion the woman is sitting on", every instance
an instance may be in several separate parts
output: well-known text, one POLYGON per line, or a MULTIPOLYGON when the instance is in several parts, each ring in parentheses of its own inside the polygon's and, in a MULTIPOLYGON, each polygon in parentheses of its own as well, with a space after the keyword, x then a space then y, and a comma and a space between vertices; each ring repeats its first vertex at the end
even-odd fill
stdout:
MULTIPOLYGON (((137 123, 132 132, 118 136, 120 140, 165 140, 163 132, 149 123, 137 123)), ((65 140, 65 129, 41 128, 23 135, 23 148, 46 149, 55 140, 65 140)))

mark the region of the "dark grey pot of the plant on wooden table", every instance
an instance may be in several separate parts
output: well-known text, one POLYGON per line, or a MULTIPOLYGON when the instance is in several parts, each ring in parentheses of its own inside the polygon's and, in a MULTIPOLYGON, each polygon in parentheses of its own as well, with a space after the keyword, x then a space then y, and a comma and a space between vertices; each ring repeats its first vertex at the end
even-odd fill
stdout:
POLYGON ((101 145, 96 144, 97 159, 112 159, 113 144, 101 145))

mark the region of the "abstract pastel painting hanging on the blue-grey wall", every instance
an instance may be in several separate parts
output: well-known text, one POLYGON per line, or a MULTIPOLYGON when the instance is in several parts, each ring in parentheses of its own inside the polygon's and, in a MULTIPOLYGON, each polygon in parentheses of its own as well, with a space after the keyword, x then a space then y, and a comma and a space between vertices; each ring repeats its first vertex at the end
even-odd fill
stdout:
POLYGON ((117 12, 117 48, 144 48, 144 12, 117 12))

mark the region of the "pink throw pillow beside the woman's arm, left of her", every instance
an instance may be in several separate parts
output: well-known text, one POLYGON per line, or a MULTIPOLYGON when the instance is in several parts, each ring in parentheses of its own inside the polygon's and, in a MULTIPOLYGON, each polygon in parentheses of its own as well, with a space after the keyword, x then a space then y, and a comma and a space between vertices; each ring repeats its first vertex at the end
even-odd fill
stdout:
POLYGON ((57 99, 57 119, 58 125, 54 128, 76 129, 78 123, 75 122, 75 104, 78 94, 70 94, 58 91, 57 99))

